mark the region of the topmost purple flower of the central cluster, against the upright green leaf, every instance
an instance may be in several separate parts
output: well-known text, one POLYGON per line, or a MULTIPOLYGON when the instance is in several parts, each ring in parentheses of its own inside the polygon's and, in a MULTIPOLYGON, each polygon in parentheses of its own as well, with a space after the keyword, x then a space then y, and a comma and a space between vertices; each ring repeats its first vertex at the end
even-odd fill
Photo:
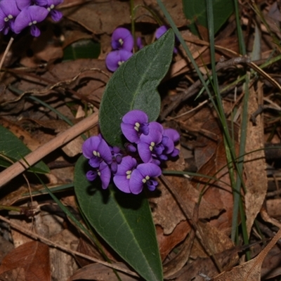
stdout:
POLYGON ((148 135, 148 115, 141 110, 131 110, 122 118, 121 130, 131 143, 139 143, 142 134, 148 135))

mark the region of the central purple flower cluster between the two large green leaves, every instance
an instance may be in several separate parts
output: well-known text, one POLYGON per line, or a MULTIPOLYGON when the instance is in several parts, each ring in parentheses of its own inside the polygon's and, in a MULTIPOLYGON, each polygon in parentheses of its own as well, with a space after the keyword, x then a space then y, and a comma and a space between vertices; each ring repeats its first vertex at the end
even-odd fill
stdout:
POLYGON ((144 185, 155 190, 155 178, 162 174, 159 165, 179 153, 175 148, 180 138, 178 132, 164 129, 158 122, 148 122, 148 115, 141 110, 126 113, 121 130, 129 141, 125 150, 112 148, 100 135, 84 142, 82 152, 91 166, 86 178, 93 181, 99 176, 103 189, 113 178, 117 188, 126 193, 138 194, 144 185))

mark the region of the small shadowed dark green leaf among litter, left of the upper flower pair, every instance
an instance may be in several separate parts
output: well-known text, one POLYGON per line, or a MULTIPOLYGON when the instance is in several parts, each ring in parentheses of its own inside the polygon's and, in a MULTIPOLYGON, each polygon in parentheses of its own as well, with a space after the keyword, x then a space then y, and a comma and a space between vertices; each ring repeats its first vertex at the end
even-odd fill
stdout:
POLYGON ((100 44, 91 39, 79 40, 63 50, 63 60, 98 58, 98 55, 100 55, 100 44))

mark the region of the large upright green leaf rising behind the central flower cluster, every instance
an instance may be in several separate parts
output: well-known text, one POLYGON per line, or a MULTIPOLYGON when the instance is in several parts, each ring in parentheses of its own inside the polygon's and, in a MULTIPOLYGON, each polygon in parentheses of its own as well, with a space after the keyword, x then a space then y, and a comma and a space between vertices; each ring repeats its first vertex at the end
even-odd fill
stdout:
POLYGON ((100 103, 100 131, 112 146, 123 147, 120 124, 130 110, 143 110, 151 121, 159 116, 157 86, 169 70, 174 50, 174 33, 166 32, 155 43, 120 65, 107 83, 100 103))

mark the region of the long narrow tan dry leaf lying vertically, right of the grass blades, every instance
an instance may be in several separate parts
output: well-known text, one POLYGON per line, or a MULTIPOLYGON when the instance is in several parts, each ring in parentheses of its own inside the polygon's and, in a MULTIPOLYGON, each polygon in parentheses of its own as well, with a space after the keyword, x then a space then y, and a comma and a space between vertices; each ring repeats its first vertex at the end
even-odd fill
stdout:
MULTIPOLYGON (((260 86, 259 89, 262 87, 260 86)), ((259 107, 256 92, 254 88, 249 89, 248 101, 248 120, 259 107)), ((247 217, 247 233, 251 232, 251 226, 254 223, 256 215, 261 210, 266 191, 268 190, 268 179, 266 175, 266 159, 264 155, 263 139, 263 120, 261 115, 256 117, 256 126, 248 122, 247 138, 245 152, 251 152, 245 155, 244 170, 247 176, 246 195, 245 195, 245 213, 247 217), (258 150, 252 152, 254 150, 258 150)))

